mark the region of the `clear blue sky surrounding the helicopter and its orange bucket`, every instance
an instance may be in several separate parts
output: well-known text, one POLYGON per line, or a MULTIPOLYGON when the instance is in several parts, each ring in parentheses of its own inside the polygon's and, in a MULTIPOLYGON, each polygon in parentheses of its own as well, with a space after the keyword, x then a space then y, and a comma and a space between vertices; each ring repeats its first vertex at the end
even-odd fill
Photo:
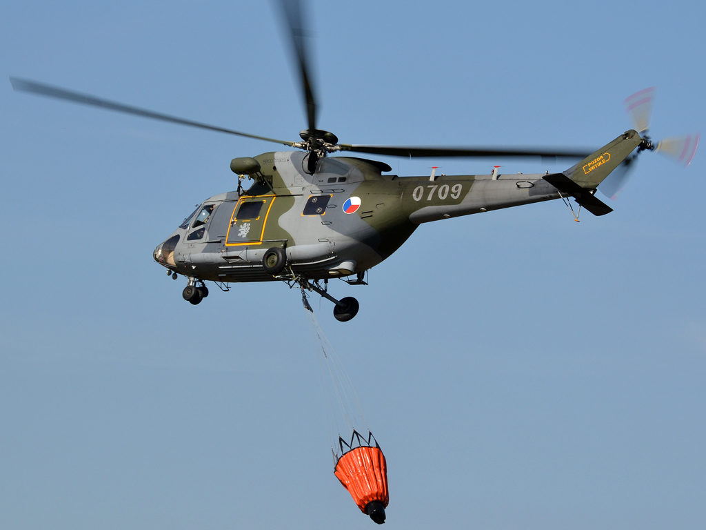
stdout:
MULTIPOLYGON (((705 8, 313 1, 346 143, 596 146, 657 86, 704 130, 705 8)), ((0 73, 282 139, 304 112, 268 2, 6 1, 0 73)), ((152 249, 273 147, 0 83, 0 512, 13 529, 370 528, 333 476, 285 285, 181 300, 152 249)), ((400 175, 563 170, 383 159, 400 175), (399 164, 399 165, 397 165, 399 164)), ((388 527, 706 524, 705 155, 646 153, 609 216, 558 201, 423 225, 313 300, 388 459, 388 527), (319 309, 321 307, 321 309, 319 309)))

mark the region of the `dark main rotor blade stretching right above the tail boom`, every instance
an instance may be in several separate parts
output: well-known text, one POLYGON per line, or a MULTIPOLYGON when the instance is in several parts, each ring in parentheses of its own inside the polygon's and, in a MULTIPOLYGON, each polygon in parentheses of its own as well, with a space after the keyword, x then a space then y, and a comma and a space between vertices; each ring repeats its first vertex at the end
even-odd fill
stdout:
POLYGON ((532 148, 472 148, 472 147, 403 147, 361 146, 339 144, 341 151, 369 153, 371 155, 405 156, 409 158, 488 157, 488 158, 586 158, 594 149, 532 149, 532 148))

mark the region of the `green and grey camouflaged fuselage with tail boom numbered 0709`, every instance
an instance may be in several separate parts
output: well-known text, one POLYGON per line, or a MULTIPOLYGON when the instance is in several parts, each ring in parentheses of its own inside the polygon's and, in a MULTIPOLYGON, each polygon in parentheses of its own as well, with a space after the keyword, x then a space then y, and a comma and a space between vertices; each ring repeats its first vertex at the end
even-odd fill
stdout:
MULTIPOLYGON (((628 131, 556 176, 592 195, 641 142, 628 131)), ((384 163, 348 157, 322 158, 310 174, 306 156, 255 157, 255 184, 204 201, 155 249, 155 260, 203 281, 269 281, 275 278, 263 269, 263 255, 279 247, 291 273, 337 278, 381 263, 421 223, 566 196, 545 174, 397 177, 383 175, 384 163)))

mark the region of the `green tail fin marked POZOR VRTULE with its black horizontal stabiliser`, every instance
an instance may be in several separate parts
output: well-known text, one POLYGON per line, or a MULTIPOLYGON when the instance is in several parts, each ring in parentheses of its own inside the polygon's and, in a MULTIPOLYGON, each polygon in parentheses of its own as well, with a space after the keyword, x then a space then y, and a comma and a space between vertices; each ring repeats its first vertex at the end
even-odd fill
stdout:
POLYGON ((627 131, 565 172, 543 178, 559 192, 573 196, 578 204, 594 216, 604 216, 611 213, 613 208, 594 196, 596 188, 640 143, 642 138, 637 131, 627 131))

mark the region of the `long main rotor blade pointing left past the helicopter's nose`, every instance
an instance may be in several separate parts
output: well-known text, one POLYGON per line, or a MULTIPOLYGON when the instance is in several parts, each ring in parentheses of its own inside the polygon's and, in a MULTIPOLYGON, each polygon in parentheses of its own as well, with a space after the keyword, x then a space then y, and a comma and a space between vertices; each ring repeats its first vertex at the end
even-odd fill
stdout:
POLYGON ((100 107, 102 109, 114 110, 116 112, 125 112, 126 114, 136 114, 137 116, 142 116, 145 118, 160 119, 162 120, 162 122, 172 122, 181 125, 189 125, 192 127, 199 127, 201 129, 208 129, 210 131, 218 131, 227 134, 237 134, 238 136, 245 136, 246 138, 254 138, 257 140, 264 140, 268 142, 282 143, 285 146, 290 147, 294 145, 293 142, 289 141, 268 138, 267 136, 258 136, 256 134, 247 134, 244 132, 234 131, 232 129, 225 129, 224 127, 217 127, 201 122, 192 122, 190 119, 177 118, 174 116, 169 116, 168 114, 161 114, 160 112, 152 112, 151 110, 144 110, 138 107, 131 107, 129 105, 123 105, 122 103, 102 100, 92 95, 81 94, 78 92, 73 92, 73 90, 66 90, 65 88, 58 88, 56 86, 45 85, 44 83, 37 83, 35 81, 28 81, 27 79, 18 79, 16 77, 11 77, 10 83, 12 83, 12 88, 17 92, 29 92, 33 94, 45 95, 49 98, 73 101, 74 103, 80 103, 81 105, 90 105, 92 107, 100 107))

